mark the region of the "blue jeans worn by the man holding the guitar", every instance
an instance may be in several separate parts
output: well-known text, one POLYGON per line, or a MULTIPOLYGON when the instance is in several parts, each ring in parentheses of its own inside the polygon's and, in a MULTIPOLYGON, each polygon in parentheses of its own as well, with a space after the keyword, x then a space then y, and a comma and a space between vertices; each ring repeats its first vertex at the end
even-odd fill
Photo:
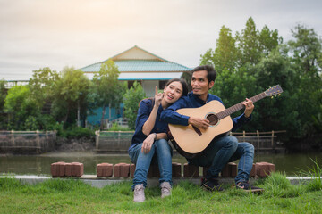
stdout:
POLYGON ((216 178, 227 162, 240 160, 235 183, 247 182, 254 160, 254 146, 243 142, 238 143, 234 136, 223 136, 213 140, 200 156, 188 160, 200 167, 209 167, 206 178, 216 178))

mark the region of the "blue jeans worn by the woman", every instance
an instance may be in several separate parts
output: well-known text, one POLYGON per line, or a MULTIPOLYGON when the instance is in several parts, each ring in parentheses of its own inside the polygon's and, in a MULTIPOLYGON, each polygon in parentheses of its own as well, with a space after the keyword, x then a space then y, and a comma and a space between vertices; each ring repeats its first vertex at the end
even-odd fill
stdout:
POLYGON ((160 184, 169 182, 172 185, 172 148, 168 142, 165 139, 157 140, 148 153, 141 152, 142 144, 138 144, 129 151, 131 162, 135 164, 132 189, 135 185, 147 186, 148 169, 152 159, 153 162, 157 161, 160 184))

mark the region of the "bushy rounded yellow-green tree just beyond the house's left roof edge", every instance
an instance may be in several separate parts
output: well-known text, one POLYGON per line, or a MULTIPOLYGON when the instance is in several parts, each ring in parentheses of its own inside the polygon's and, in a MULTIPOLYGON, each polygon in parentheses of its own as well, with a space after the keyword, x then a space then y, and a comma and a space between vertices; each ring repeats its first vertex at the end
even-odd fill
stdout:
POLYGON ((86 115, 90 81, 83 71, 65 67, 54 86, 52 113, 57 121, 64 122, 64 128, 75 125, 78 111, 86 115))

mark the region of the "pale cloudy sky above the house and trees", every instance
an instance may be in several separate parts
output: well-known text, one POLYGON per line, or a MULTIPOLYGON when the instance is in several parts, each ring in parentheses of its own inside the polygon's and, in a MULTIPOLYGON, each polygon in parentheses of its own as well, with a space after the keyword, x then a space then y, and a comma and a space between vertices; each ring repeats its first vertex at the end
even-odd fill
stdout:
POLYGON ((320 0, 0 0, 0 79, 80 69, 134 45, 193 68, 223 25, 235 35, 250 17, 284 42, 297 24, 322 36, 320 0))

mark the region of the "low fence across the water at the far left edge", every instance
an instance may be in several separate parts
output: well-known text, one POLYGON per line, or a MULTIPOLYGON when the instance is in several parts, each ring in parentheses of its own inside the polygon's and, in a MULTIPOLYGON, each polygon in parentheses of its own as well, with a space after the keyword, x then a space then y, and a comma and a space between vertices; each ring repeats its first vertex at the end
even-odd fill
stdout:
POLYGON ((0 131, 0 151, 49 152, 55 148, 55 131, 0 131))

